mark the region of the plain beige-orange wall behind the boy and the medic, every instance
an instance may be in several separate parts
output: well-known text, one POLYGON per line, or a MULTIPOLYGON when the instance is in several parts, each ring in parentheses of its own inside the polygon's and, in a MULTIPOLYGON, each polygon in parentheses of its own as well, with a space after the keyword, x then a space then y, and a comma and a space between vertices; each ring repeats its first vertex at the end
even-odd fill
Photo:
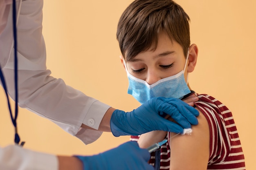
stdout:
MULTIPOLYGON (((52 75, 114 108, 139 106, 126 93, 128 81, 119 61, 117 22, 132 0, 45 0, 43 34, 47 68, 52 75)), ((247 170, 256 160, 256 1, 177 0, 191 18, 191 43, 199 48, 189 84, 232 110, 245 153, 247 170)), ((0 145, 13 144, 13 127, 0 89, 0 145)), ((102 137, 88 146, 61 128, 25 109, 18 117, 25 148, 63 155, 96 154, 129 137, 102 137)))

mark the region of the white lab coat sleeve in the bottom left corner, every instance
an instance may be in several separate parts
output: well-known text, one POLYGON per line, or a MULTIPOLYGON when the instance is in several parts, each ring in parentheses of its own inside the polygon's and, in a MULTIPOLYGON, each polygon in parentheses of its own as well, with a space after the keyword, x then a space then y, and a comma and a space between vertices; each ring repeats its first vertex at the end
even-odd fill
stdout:
POLYGON ((0 148, 1 170, 58 170, 58 159, 55 155, 34 152, 10 145, 0 148))

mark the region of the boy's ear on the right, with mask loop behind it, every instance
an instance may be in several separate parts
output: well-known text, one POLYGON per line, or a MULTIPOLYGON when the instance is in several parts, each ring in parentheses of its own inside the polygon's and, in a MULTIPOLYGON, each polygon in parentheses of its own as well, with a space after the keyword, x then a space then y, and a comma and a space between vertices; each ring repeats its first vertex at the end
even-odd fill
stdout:
POLYGON ((189 47, 189 58, 188 58, 188 73, 191 73, 195 69, 196 61, 198 59, 198 46, 195 44, 192 44, 189 47))

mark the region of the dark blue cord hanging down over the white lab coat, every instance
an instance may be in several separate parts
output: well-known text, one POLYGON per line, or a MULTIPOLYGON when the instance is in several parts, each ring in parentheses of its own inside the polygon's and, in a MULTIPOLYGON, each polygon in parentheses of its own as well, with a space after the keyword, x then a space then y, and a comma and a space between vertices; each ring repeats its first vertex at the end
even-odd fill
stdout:
MULTIPOLYGON (((9 101, 9 95, 8 95, 8 91, 7 91, 7 85, 5 83, 5 79, 4 79, 4 75, 2 73, 2 68, 0 66, 0 78, 2 81, 2 86, 4 88, 6 97, 7 97, 7 103, 8 103, 8 108, 9 108, 9 112, 10 112, 10 116, 11 116, 11 121, 12 124, 14 126, 14 130, 15 130, 15 137, 14 137, 14 142, 15 144, 19 145, 20 143, 20 137, 18 135, 18 128, 17 128, 17 117, 18 117, 18 57, 17 57, 17 28, 16 28, 16 0, 13 0, 12 3, 12 17, 13 17, 13 39, 14 39, 14 44, 13 44, 13 48, 14 48, 14 84, 15 84, 15 115, 13 117, 13 113, 11 110, 11 104, 9 101)), ((21 142, 20 146, 23 146, 25 144, 25 142, 21 142)))

